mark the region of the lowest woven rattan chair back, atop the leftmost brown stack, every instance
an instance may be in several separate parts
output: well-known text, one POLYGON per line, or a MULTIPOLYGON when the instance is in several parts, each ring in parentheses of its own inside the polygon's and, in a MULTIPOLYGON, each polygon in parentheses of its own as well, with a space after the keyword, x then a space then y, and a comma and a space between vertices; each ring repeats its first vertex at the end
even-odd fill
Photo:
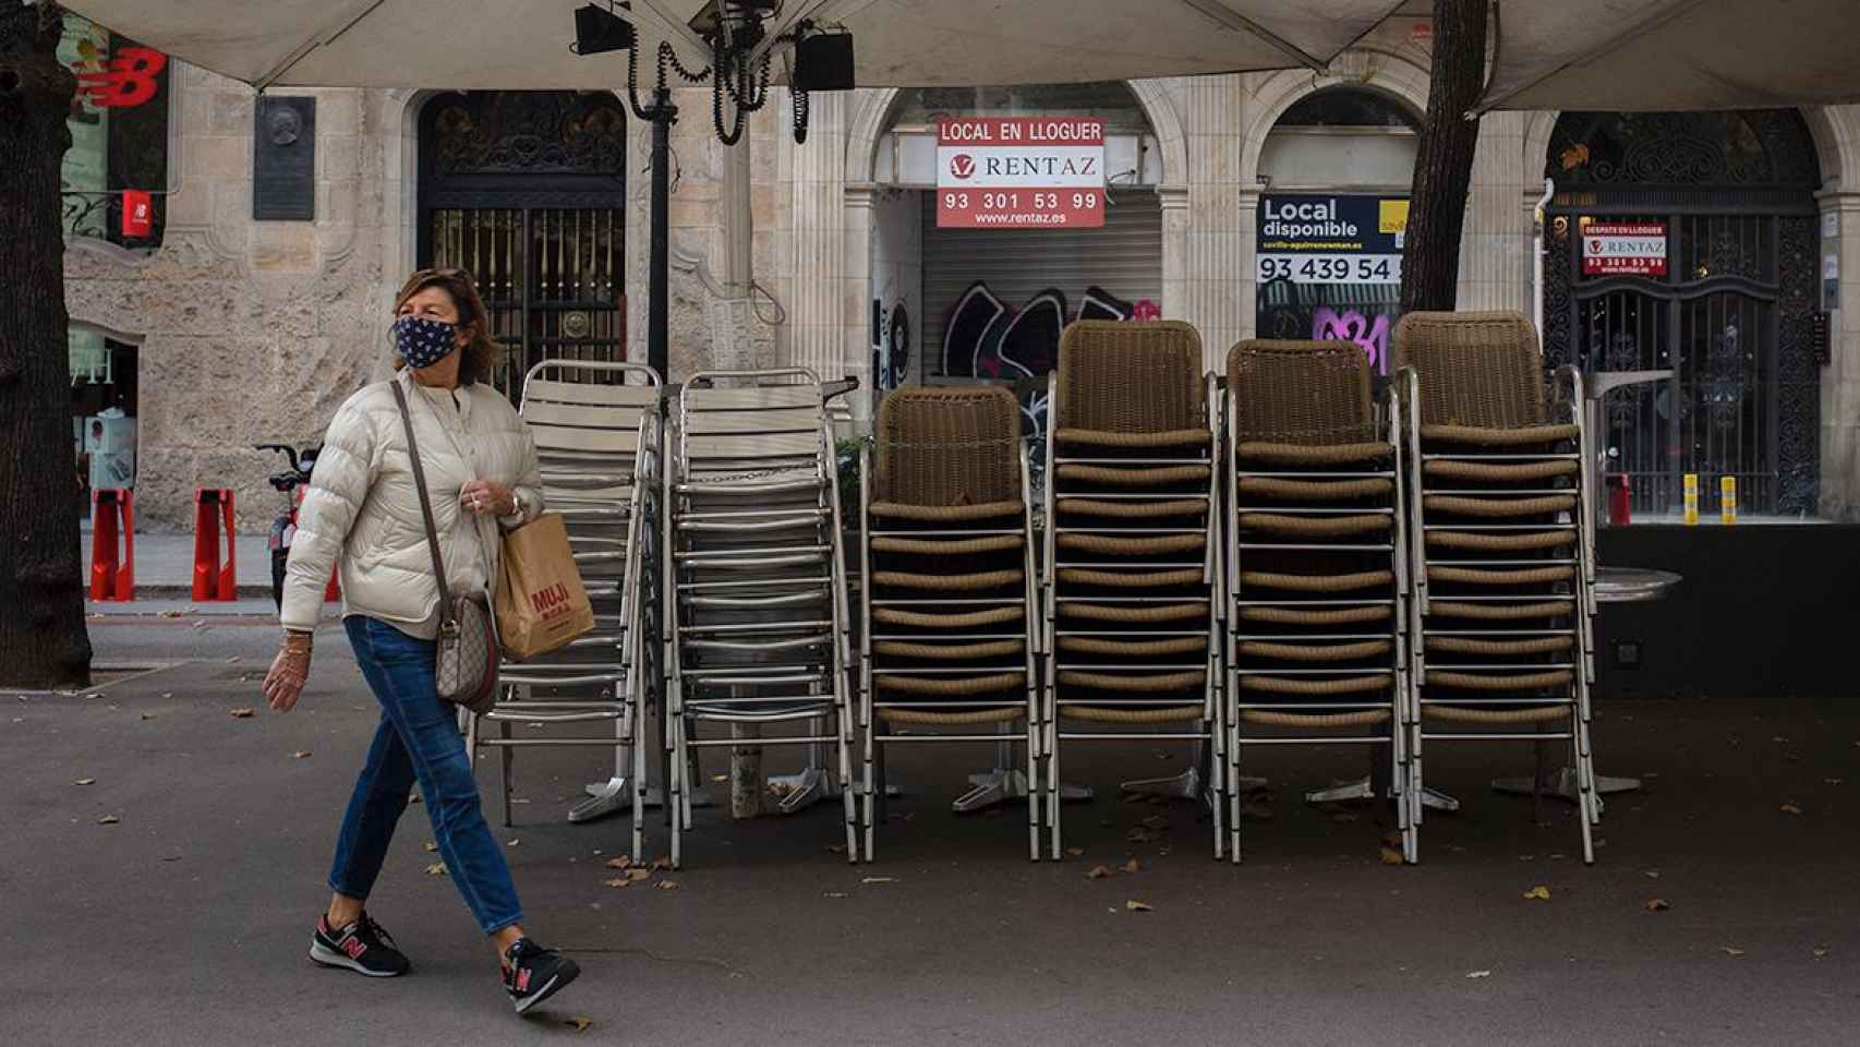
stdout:
POLYGON ((872 500, 1017 502, 1019 446, 1021 405, 1006 389, 895 389, 878 405, 872 500))

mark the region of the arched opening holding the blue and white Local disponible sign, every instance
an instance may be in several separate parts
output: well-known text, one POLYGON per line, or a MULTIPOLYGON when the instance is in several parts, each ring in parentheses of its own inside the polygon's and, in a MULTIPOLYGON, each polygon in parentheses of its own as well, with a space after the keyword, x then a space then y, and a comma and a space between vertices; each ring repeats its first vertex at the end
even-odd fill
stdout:
POLYGON ((1417 113, 1371 87, 1293 102, 1259 149, 1261 338, 1343 338, 1388 372, 1417 113))

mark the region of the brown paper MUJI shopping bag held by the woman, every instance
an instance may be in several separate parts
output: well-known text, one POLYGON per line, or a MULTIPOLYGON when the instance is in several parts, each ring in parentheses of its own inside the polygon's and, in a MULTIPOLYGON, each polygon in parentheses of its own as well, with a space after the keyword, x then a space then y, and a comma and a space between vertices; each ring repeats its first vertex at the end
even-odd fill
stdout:
POLYGON ((560 515, 543 513, 506 534, 498 571, 497 634, 506 656, 536 658, 593 629, 593 604, 560 515))

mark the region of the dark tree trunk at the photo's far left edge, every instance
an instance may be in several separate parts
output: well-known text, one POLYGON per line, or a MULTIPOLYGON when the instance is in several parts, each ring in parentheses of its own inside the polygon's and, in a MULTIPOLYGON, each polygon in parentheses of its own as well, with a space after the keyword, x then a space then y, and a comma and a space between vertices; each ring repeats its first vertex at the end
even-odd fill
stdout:
POLYGON ((87 686, 60 167, 63 13, 0 0, 0 683, 87 686))

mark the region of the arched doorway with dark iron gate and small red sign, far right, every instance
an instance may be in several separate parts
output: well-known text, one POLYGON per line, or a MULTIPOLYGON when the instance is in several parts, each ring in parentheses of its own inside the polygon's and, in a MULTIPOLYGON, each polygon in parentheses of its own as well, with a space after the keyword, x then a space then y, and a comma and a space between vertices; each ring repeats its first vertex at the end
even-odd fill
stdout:
POLYGON ((1609 394, 1611 469, 1637 513, 1819 497, 1819 162, 1793 110, 1562 113, 1544 238, 1544 350, 1587 372, 1672 370, 1609 394))

